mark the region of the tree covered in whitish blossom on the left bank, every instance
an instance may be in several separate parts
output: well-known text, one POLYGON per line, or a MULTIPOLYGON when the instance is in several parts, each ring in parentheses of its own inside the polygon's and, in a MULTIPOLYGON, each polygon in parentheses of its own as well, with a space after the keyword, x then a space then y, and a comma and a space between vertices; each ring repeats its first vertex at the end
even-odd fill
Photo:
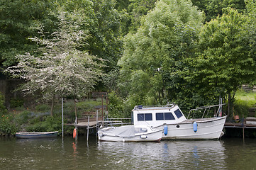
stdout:
POLYGON ((58 17, 59 29, 50 38, 45 38, 43 31, 42 37, 31 38, 40 45, 40 55, 18 55, 18 64, 6 71, 26 80, 21 86, 26 94, 39 90, 45 99, 55 94, 81 98, 94 88, 104 65, 99 58, 79 50, 88 36, 79 28, 79 22, 67 19, 63 12, 58 17))

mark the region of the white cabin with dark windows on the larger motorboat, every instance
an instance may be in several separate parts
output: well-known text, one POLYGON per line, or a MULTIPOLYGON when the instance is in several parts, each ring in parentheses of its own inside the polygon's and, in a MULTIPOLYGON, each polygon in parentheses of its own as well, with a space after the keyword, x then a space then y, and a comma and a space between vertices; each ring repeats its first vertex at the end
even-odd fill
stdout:
POLYGON ((167 106, 135 106, 132 111, 134 125, 151 125, 181 123, 187 120, 177 105, 167 106))

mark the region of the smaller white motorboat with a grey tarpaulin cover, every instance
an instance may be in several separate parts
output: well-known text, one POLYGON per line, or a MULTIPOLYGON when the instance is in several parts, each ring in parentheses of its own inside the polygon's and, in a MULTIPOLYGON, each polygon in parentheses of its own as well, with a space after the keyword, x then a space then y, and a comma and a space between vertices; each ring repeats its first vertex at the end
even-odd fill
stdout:
POLYGON ((98 130, 99 140, 112 142, 149 142, 160 141, 162 129, 148 125, 123 125, 98 130))

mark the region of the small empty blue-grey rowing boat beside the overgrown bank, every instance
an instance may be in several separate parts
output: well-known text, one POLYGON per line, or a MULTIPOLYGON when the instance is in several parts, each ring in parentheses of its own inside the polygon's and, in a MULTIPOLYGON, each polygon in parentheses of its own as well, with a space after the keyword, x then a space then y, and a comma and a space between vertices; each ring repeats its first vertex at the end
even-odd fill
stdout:
POLYGON ((57 137, 58 131, 55 132, 16 132, 17 138, 45 138, 57 137))

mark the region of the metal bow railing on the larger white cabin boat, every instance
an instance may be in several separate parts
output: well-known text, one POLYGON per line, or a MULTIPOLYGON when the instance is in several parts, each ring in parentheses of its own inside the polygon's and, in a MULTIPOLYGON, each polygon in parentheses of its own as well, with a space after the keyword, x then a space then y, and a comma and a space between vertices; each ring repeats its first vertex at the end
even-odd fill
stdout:
POLYGON ((196 111, 200 111, 200 110, 204 110, 204 113, 202 114, 201 118, 207 117, 210 109, 217 108, 217 107, 218 107, 218 110, 214 112, 214 117, 220 116, 222 114, 221 112, 222 112, 223 105, 226 105, 226 104, 224 103, 224 104, 211 105, 211 106, 200 106, 200 107, 191 109, 189 111, 189 115, 187 116, 187 118, 189 119, 189 116, 191 115, 191 113, 194 113, 193 115, 191 115, 191 118, 194 118, 196 111), (206 113, 206 111, 207 111, 207 113, 206 113))

